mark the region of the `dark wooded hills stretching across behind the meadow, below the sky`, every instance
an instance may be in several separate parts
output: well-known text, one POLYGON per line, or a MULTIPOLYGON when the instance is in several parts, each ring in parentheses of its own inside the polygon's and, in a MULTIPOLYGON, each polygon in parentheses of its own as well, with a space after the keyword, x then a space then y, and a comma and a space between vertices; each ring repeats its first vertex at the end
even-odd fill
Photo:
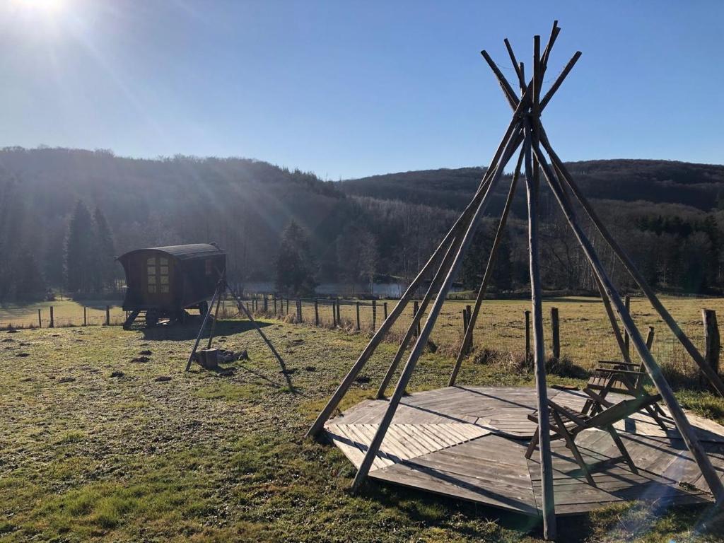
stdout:
MULTIPOLYGON (((722 292, 724 167, 645 160, 569 167, 659 290, 722 292)), ((48 288, 101 295, 122 277, 114 256, 209 241, 229 253, 234 282, 276 281, 280 290, 300 292, 319 282, 363 290, 372 280, 409 279, 482 174, 481 168, 439 169, 328 182, 252 159, 151 160, 106 150, 4 148, 0 300, 35 298, 48 288)), ((507 177, 497 188, 476 233, 476 250, 459 278, 463 287, 474 290, 481 279, 509 182, 507 177)), ((541 206, 544 287, 592 292, 591 272, 547 190, 541 206)), ((602 257, 618 285, 633 288, 613 255, 602 257)), ((492 289, 526 290, 527 266, 521 183, 492 289)))

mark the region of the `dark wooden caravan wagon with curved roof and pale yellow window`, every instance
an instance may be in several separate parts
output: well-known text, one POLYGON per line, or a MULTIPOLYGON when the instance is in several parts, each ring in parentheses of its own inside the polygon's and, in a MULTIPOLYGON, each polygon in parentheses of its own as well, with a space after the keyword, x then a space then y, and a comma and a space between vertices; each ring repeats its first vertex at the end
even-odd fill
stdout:
POLYGON ((164 318, 183 321, 187 309, 205 313, 226 274, 226 253, 213 243, 137 249, 117 260, 126 273, 125 328, 141 313, 148 326, 164 318))

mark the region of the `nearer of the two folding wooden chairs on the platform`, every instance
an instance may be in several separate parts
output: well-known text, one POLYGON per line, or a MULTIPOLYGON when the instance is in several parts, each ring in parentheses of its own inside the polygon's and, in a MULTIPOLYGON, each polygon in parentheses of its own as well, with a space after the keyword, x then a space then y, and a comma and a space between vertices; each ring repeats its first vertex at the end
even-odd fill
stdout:
MULTIPOLYGON (((660 399, 661 396, 658 394, 634 397, 631 400, 623 400, 615 405, 611 405, 595 415, 579 413, 577 411, 573 411, 573 409, 563 407, 563 405, 558 405, 552 400, 548 400, 548 414, 551 431, 550 438, 552 440, 565 440, 566 447, 568 447, 568 449, 571 450, 571 453, 573 453, 573 458, 576 459, 578 466, 581 466, 581 471, 584 472, 586 480, 594 487, 596 486, 596 483, 591 475, 591 469, 589 469, 589 466, 586 465, 583 456, 581 456, 581 451, 578 450, 578 446, 576 445, 576 436, 587 429, 605 430, 613 438, 613 442, 616 447, 618 447, 621 455, 607 460, 606 463, 623 460, 628 464, 628 467, 631 468, 633 473, 639 473, 636 466, 633 464, 633 460, 631 460, 631 455, 628 454, 626 447, 623 445, 623 441, 621 441, 621 438, 613 425, 618 421, 631 416, 633 413, 647 408, 647 406, 654 405, 654 403, 660 399)), ((537 411, 535 413, 531 413, 528 418, 530 421, 538 424, 537 411)), ((538 442, 539 429, 536 429, 533 439, 531 439, 530 445, 528 446, 528 450, 526 450, 526 458, 531 458, 538 442)))

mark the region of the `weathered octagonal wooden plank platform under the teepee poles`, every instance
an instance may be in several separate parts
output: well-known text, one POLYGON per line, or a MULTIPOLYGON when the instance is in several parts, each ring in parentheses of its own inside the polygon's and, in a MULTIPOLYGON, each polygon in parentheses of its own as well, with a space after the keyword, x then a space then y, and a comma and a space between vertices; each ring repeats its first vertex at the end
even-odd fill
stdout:
MULTIPOLYGON (((583 392, 550 389, 549 397, 582 408, 583 392)), ((623 399, 610 395, 613 401, 623 399)), ((447 387, 403 398, 369 476, 495 508, 541 514, 538 451, 524 454, 535 424, 532 388, 447 387)), ((327 437, 359 466, 387 400, 366 400, 330 419, 327 437)), ((687 413, 704 449, 724 479, 724 427, 687 413)), ((552 442, 556 513, 584 513, 621 500, 683 504, 711 501, 699 468, 673 421, 668 431, 646 415, 620 421, 617 429, 639 473, 607 463, 618 450, 607 432, 586 430, 576 438, 586 463, 597 464, 596 487, 588 484, 563 440, 552 442)))

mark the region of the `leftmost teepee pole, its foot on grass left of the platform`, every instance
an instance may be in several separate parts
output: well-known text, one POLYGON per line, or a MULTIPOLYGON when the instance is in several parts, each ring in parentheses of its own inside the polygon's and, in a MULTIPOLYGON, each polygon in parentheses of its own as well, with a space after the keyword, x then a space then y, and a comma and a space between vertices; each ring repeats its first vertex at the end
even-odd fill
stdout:
MULTIPOLYGON (((337 390, 334 392, 332 397, 329 398, 327 405, 325 405, 324 408, 319 412, 319 415, 315 419, 311 428, 307 431, 306 437, 316 437, 319 435, 319 432, 321 432, 321 430, 324 428, 324 423, 327 422, 329 416, 332 415, 334 409, 336 409, 337 405, 339 405, 340 401, 342 401, 342 397, 345 396, 350 386, 352 386, 355 377, 358 375, 361 369, 363 369, 363 367, 369 360, 369 357, 372 355, 372 353, 374 353, 374 350, 377 348, 379 343, 382 342, 384 336, 390 330, 392 325, 395 324, 395 321, 400 316, 400 314, 405 310, 405 307, 407 306, 409 300, 412 298, 413 294, 416 292, 423 278, 425 277, 426 272, 431 269, 432 265, 442 254, 442 251, 445 250, 445 248, 447 248, 452 243, 455 235, 458 235, 458 232, 462 230, 463 227, 467 226, 466 223, 468 221, 468 217, 475 209, 475 206, 479 204, 479 199, 484 198, 484 195, 487 194, 487 188, 492 182, 493 174, 489 174, 489 172, 493 172, 492 167, 494 167, 494 165, 497 164, 500 158, 505 154, 505 151, 507 150, 508 146, 510 146, 511 141, 514 141, 516 143, 516 146, 520 144, 520 128, 520 119, 513 117, 513 119, 510 121, 510 125, 508 125, 508 130, 506 130, 505 135, 503 136, 500 145, 498 146, 497 151, 493 156, 493 160, 491 161, 491 167, 486 170, 483 180, 481 181, 475 196, 473 196, 472 201, 468 203, 466 209, 460 214, 460 216, 458 216, 455 224, 452 225, 450 230, 443 238, 442 242, 439 243, 437 249, 434 251, 432 256, 430 256, 429 260, 418 272, 415 279, 413 279, 410 285, 408 285, 407 290, 405 290, 400 300, 397 302, 397 304, 395 304, 395 307, 392 308, 392 312, 388 316, 385 316, 382 326, 379 327, 377 332, 367 344, 366 348, 364 348, 362 353, 359 355, 357 361, 350 368, 350 371, 348 371, 348 374, 345 375, 344 379, 342 379, 342 382, 340 382, 337 390)), ((387 303, 385 303, 384 305, 384 311, 385 313, 387 313, 387 303)))

